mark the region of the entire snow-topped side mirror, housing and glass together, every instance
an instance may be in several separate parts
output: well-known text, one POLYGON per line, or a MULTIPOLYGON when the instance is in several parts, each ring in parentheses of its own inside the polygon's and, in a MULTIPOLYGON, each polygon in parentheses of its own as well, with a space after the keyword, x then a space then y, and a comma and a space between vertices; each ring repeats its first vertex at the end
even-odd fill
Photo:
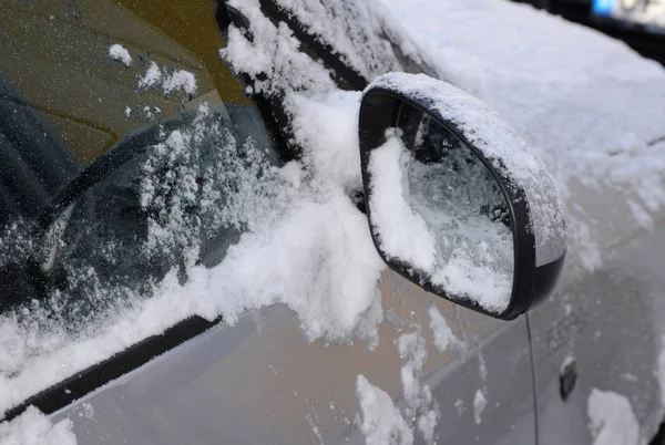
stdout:
POLYGON ((371 236, 392 270, 503 320, 551 292, 566 251, 555 182, 483 102, 389 73, 364 93, 359 138, 371 236))

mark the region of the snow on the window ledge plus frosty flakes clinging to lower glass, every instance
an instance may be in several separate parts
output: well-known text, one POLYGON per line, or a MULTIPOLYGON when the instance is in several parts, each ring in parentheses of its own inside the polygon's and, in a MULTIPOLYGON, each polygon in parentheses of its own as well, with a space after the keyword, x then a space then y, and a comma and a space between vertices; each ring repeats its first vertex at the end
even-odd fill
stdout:
MULTIPOLYGON (((226 121, 211 116, 213 107, 196 112, 190 124, 178 128, 165 125, 146 152, 155 157, 143 157, 132 167, 140 173, 145 168, 133 185, 137 194, 129 208, 150 217, 135 229, 145 230, 143 236, 151 234, 145 238, 151 244, 142 241, 150 249, 123 250, 132 246, 123 247, 122 238, 104 249, 99 241, 89 242, 88 247, 98 247, 92 251, 80 245, 79 253, 92 255, 100 267, 76 267, 69 290, 0 315, 0 411, 194 314, 208 320, 222 315, 233 324, 249 309, 282 302, 298 313, 310 339, 376 339, 382 320, 377 280, 385 265, 372 245, 367 219, 348 195, 349 185, 360 183, 357 115, 348 112, 359 97, 359 93, 336 93, 316 102, 300 97, 303 114, 296 122, 311 122, 307 116, 316 108, 335 126, 300 128, 299 137, 309 141, 305 159, 283 167, 274 166, 265 154, 266 141, 237 133, 235 141, 231 138, 222 125, 226 121), (352 166, 352 172, 346 166, 352 166), (214 184, 206 183, 206 175, 214 184), (195 221, 185 211, 196 208, 194 196, 203 209, 202 219, 225 226, 223 236, 198 238, 192 226, 195 221), (166 205, 152 208, 156 200, 166 205), (157 261, 160 247, 174 242, 190 246, 190 255, 180 266, 163 269, 157 261), (195 253, 203 263, 192 261, 195 253), (151 261, 143 261, 142 256, 151 261), (132 288, 126 279, 110 283, 103 273, 104 268, 120 268, 140 278, 146 266, 158 279, 142 281, 140 287, 132 288)), ((235 113, 232 106, 226 112, 235 113)), ((96 192, 106 187, 113 192, 113 186, 129 182, 105 184, 96 192)), ((98 201, 115 208, 119 204, 117 199, 98 201)), ((116 215, 125 218, 129 214, 116 215)), ((76 227, 85 224, 76 224, 74 216, 63 227, 71 230, 71 239, 81 241, 76 227)), ((64 253, 66 249, 55 256, 53 268, 75 266, 76 255, 64 253)))

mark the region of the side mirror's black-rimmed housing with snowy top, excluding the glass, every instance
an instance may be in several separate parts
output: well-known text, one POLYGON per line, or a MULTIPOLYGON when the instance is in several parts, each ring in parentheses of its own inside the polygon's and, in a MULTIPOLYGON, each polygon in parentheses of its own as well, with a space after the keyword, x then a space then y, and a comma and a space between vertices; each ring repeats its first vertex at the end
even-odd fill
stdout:
MULTIPOLYGON (((502 320, 515 319, 544 301, 559 279, 566 252, 563 204, 542 161, 494 111, 449 83, 423 74, 389 73, 379 76, 364 92, 359 143, 370 231, 390 269, 439 297, 502 320), (505 224, 512 231, 514 258, 510 296, 500 308, 483 306, 469 293, 446 289, 441 282, 434 282, 432 273, 403 256, 387 252, 382 246, 381 227, 372 219, 372 194, 377 193, 378 180, 370 168, 371 157, 396 135, 402 138, 407 152, 416 151, 409 146, 413 137, 409 139, 401 125, 406 110, 418 111, 460 146, 468 147, 503 195, 510 213, 505 224)), ((408 194, 408 185, 400 182, 402 194, 408 194)))

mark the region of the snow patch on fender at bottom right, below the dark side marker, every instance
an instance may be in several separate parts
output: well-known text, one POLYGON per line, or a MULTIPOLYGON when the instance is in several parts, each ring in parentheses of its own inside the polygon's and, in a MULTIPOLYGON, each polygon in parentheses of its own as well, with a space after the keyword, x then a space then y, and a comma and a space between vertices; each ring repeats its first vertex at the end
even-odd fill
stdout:
POLYGON ((593 389, 586 405, 593 445, 640 445, 640 424, 623 395, 593 389))

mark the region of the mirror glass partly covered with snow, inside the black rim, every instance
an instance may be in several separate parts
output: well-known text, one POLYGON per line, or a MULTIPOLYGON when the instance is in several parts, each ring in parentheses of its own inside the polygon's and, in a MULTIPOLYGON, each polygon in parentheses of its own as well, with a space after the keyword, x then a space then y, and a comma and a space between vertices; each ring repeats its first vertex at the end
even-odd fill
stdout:
POLYGON ((387 136, 369 162, 380 250, 450 299, 501 313, 511 300, 514 247, 498 180, 454 134, 406 103, 387 136))

